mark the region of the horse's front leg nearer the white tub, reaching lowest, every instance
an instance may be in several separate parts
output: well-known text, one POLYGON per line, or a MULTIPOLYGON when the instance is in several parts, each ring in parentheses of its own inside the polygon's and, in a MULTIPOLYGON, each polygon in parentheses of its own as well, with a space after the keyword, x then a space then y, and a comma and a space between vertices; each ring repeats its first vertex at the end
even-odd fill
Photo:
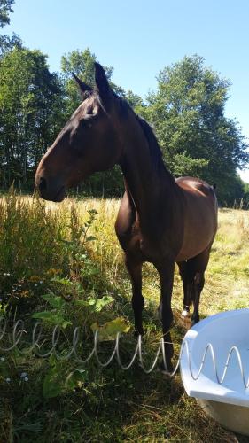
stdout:
POLYGON ((159 315, 162 323, 167 370, 171 372, 173 370, 171 359, 174 354, 174 348, 170 335, 170 326, 173 321, 171 297, 173 291, 175 263, 160 263, 159 265, 156 265, 156 268, 160 274, 161 288, 159 315))

